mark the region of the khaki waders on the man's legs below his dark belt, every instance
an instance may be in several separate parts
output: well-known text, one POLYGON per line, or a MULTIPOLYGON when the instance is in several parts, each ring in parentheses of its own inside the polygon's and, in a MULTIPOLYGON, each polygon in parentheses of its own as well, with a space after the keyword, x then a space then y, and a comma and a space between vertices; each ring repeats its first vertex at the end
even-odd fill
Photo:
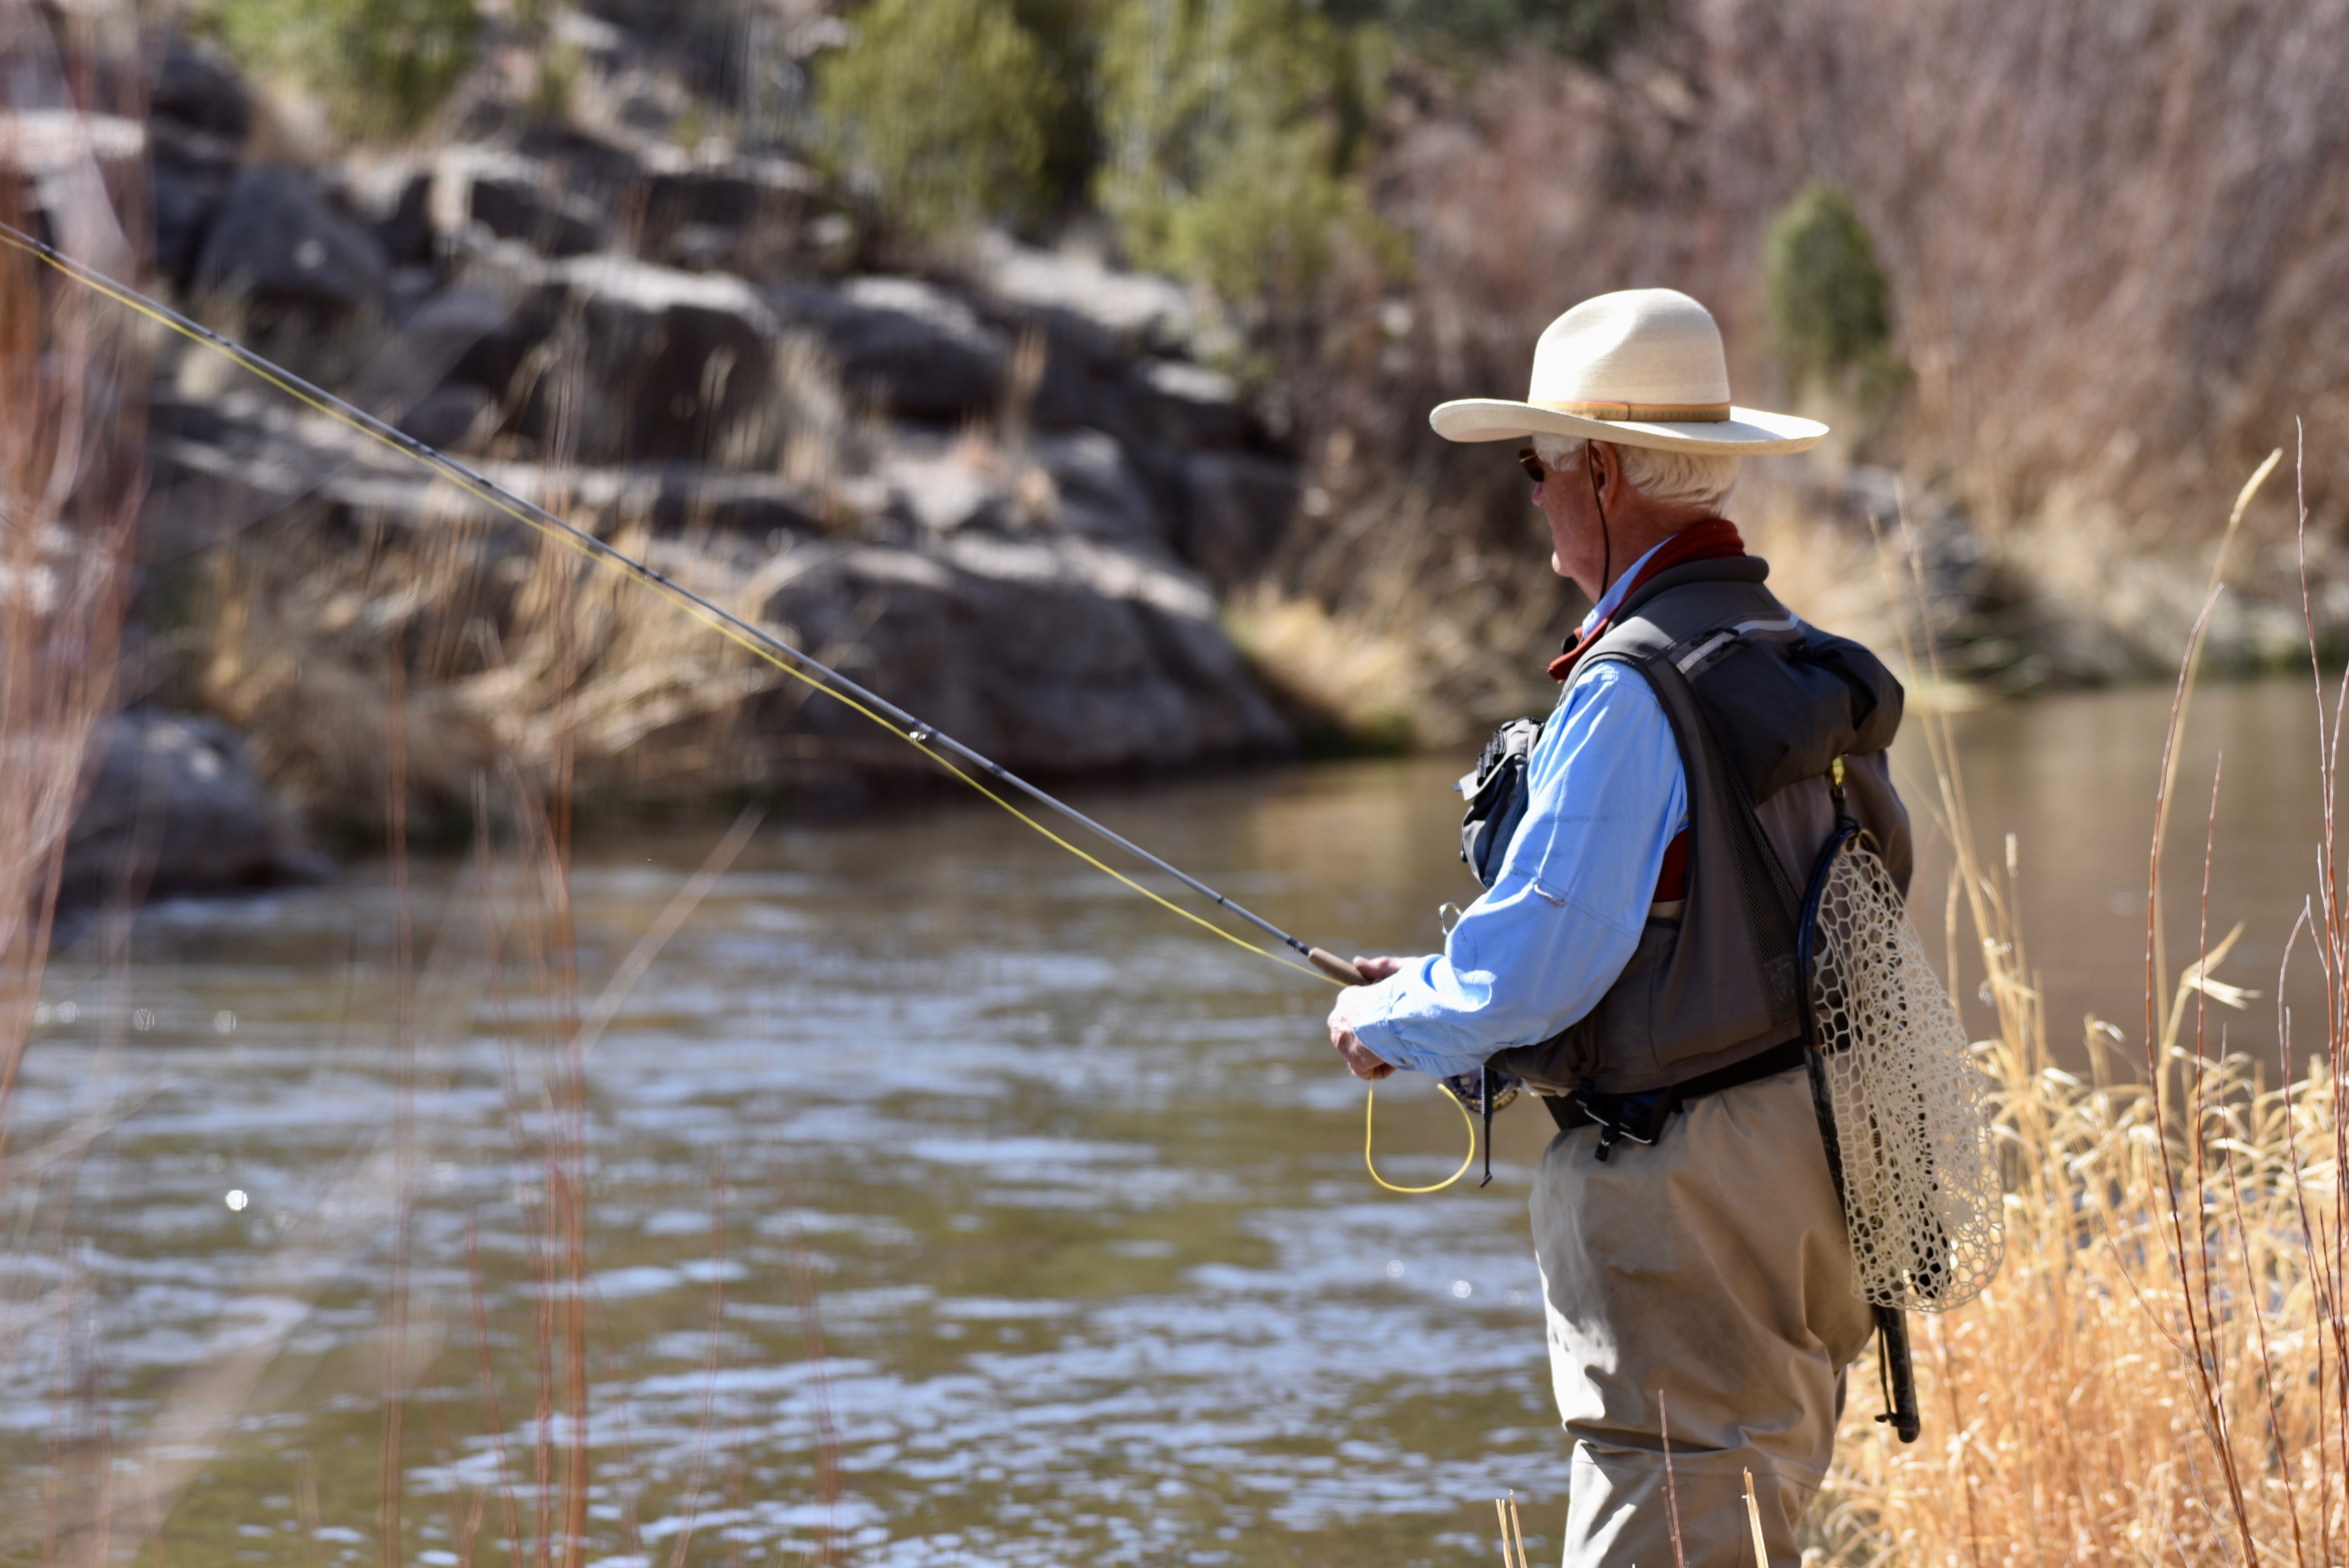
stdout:
POLYGON ((1672 1568, 1663 1420, 1689 1568, 1750 1568, 1745 1472, 1771 1568, 1828 1472, 1842 1373, 1875 1319, 1804 1073, 1687 1103, 1654 1145, 1550 1141, 1534 1256, 1574 1441, 1564 1568, 1672 1568))

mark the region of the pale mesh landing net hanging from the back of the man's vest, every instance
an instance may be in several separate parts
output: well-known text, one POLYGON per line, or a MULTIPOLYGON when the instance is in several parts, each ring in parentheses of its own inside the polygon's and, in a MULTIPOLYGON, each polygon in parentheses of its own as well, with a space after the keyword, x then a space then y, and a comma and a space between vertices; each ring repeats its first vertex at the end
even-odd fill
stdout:
POLYGON ((1858 840, 1835 857, 1818 899, 1811 1016, 1813 1087, 1842 1150, 1853 1291, 1914 1312, 1966 1305, 2006 1251, 1987 1084, 1900 890, 1858 840))

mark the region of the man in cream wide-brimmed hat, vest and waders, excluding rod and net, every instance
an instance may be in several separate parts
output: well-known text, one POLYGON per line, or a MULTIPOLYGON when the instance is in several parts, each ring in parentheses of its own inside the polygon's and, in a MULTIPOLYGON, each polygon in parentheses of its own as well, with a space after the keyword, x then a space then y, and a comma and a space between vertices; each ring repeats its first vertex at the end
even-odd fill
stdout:
POLYGON ((1372 984, 1339 993, 1330 1040, 1365 1080, 1508 1075, 1557 1122, 1532 1225, 1571 1437, 1564 1563, 1672 1563, 1670 1512, 1684 1561, 1745 1561, 1745 1472, 1771 1561, 1795 1561, 1877 1326, 1806 1082, 1795 927, 1839 819, 1907 890, 1884 758, 1903 695, 1762 587, 1722 502, 1741 458, 1825 427, 1734 408, 1712 315, 1670 289, 1583 300, 1543 331, 1525 401, 1431 423, 1529 441, 1550 568, 1593 610, 1515 749, 1515 829, 1468 838, 1489 843, 1485 897, 1442 953, 1355 960, 1372 984))

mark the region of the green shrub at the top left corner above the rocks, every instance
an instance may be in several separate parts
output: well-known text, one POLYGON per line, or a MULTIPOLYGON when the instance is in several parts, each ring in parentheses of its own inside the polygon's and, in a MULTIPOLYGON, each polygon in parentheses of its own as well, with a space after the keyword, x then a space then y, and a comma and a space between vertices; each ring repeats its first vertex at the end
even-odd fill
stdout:
POLYGON ((482 31, 474 0, 211 0, 200 16, 247 68, 291 75, 359 136, 430 120, 482 31))

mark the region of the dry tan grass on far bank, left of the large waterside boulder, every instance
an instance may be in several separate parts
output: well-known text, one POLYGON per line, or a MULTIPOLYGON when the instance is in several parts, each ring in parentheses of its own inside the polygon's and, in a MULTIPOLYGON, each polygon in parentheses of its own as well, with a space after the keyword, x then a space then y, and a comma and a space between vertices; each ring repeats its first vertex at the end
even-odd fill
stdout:
MULTIPOLYGON (((383 819, 395 707, 425 810, 470 810, 474 779, 505 768, 536 784, 571 768, 590 800, 761 777, 749 704, 785 676, 576 549, 514 533, 449 514, 350 538, 303 512, 244 535, 211 563, 200 699, 249 730, 315 819, 359 833, 383 819)), ((745 570, 740 542, 707 530, 611 523, 606 538, 752 620, 799 566, 761 552, 745 570)))

